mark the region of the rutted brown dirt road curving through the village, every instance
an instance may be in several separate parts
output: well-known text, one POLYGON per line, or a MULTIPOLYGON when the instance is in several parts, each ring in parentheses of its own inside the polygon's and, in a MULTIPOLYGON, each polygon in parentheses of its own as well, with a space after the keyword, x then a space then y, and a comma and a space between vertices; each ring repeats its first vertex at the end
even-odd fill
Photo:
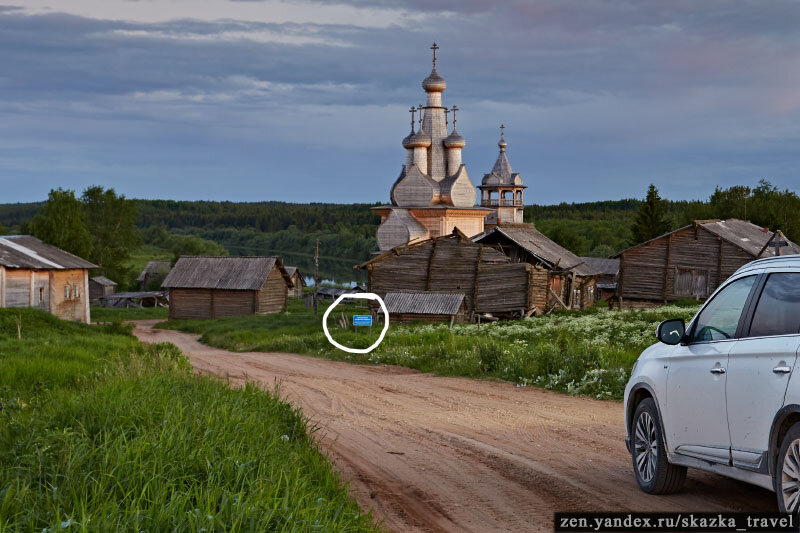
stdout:
POLYGON ((198 372, 278 381, 364 509, 394 531, 550 531, 555 511, 775 510, 764 489, 691 471, 682 493, 639 491, 616 402, 282 353, 234 353, 154 330, 198 372), (321 438, 320 438, 321 437, 321 438))

